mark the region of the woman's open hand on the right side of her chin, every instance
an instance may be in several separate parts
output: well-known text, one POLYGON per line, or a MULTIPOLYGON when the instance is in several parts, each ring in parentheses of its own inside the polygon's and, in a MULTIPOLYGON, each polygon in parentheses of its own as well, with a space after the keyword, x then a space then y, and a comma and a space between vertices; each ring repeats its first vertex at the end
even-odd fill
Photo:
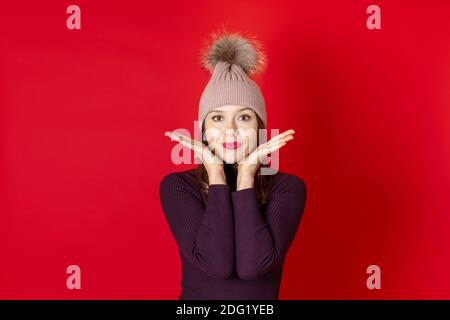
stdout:
MULTIPOLYGON (((252 153, 247 157, 239 161, 238 163, 238 173, 249 174, 252 177, 256 174, 261 163, 266 159, 266 157, 272 152, 285 146, 288 141, 294 139, 293 134, 295 131, 293 129, 287 130, 279 135, 273 137, 266 143, 259 145, 252 153)), ((244 154, 248 152, 249 141, 248 137, 245 139, 244 143, 244 154)))

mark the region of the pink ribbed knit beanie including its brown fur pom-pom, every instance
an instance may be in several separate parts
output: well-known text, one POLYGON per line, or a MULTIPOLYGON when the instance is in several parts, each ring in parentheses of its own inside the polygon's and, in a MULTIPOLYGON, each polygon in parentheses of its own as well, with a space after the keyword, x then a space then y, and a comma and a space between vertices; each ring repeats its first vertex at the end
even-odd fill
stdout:
POLYGON ((264 97, 250 78, 263 72, 266 66, 258 41, 236 32, 213 33, 212 41, 203 49, 201 64, 211 73, 211 78, 200 97, 200 129, 206 115, 224 105, 249 107, 266 126, 264 97))

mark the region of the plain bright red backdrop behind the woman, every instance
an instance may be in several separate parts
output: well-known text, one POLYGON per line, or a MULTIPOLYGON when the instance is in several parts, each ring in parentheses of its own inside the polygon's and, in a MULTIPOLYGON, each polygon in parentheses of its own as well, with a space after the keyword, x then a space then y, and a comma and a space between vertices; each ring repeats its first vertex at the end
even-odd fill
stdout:
POLYGON ((193 132, 222 24, 263 42, 269 128, 297 132, 281 170, 308 198, 280 298, 450 298, 450 2, 77 1, 73 31, 70 4, 1 6, 0 298, 178 297, 159 182, 191 165, 163 133, 193 132))

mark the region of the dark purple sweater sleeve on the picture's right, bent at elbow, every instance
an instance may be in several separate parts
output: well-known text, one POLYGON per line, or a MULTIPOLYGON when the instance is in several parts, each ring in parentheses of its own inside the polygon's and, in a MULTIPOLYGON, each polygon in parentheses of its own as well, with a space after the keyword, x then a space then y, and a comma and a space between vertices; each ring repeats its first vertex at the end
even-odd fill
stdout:
POLYGON ((236 272, 243 280, 267 273, 285 257, 303 215, 306 186, 287 175, 274 185, 263 212, 258 208, 256 190, 231 193, 236 241, 236 272))

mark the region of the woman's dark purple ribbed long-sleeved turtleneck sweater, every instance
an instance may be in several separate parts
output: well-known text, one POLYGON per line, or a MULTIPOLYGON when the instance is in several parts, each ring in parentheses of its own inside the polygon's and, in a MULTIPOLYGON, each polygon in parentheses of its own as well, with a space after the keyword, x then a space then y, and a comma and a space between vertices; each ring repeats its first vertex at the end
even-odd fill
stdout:
POLYGON ((278 172, 259 208, 255 189, 236 191, 235 178, 209 185, 207 200, 193 170, 161 181, 162 209, 180 251, 180 300, 278 299, 284 260, 303 215, 305 183, 278 172))

